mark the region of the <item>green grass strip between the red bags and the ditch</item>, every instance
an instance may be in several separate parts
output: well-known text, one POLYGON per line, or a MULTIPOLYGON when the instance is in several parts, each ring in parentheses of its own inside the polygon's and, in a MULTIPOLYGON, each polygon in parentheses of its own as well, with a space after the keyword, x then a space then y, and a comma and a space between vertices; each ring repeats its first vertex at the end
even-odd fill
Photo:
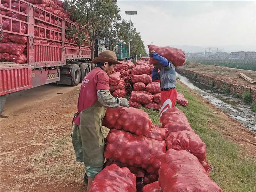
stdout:
MULTIPOLYGON (((212 164, 217 174, 212 180, 227 192, 252 192, 256 190, 256 162, 250 157, 240 154, 242 146, 224 138, 220 133, 214 131, 214 127, 224 127, 226 122, 220 121, 218 115, 207 107, 200 99, 191 93, 185 85, 177 84, 177 90, 188 99, 187 110, 180 108, 187 116, 191 127, 207 146, 207 161, 212 164)), ((153 123, 158 123, 158 113, 145 109, 153 123)))

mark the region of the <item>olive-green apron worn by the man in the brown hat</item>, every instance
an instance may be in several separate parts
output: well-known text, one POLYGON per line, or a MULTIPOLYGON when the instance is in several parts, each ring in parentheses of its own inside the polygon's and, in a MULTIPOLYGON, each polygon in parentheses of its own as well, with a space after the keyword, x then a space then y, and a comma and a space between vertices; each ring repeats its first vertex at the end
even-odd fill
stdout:
POLYGON ((85 166, 101 167, 104 164, 105 142, 101 123, 105 112, 106 108, 98 100, 80 112, 79 131, 85 166))

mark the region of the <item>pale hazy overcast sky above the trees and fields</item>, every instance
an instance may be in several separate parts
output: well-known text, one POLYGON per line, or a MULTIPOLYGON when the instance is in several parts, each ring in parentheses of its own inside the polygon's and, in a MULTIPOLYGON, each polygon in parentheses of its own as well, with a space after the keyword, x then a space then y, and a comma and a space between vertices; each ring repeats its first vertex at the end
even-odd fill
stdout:
MULTIPOLYGON (((144 45, 256 50, 256 1, 117 1, 144 45)), ((147 50, 147 49, 146 49, 147 50)))

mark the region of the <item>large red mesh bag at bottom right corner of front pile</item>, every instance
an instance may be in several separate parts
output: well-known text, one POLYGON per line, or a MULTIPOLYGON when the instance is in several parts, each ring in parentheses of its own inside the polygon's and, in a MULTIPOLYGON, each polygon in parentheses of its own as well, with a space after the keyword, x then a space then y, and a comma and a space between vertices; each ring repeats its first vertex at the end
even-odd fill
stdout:
POLYGON ((222 192, 205 172, 196 156, 185 150, 169 149, 161 156, 158 181, 163 192, 222 192))

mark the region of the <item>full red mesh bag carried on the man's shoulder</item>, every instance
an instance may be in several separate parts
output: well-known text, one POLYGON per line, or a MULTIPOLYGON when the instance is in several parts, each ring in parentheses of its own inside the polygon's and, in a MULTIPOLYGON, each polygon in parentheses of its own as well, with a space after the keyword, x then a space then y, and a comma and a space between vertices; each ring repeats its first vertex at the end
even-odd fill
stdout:
MULTIPOLYGON (((158 47, 156 45, 148 45, 149 52, 154 50, 159 55, 165 57, 167 60, 171 61, 175 67, 182 66, 185 62, 185 53, 181 49, 173 47, 158 47)), ((149 64, 159 63, 153 57, 149 58, 149 64)))

